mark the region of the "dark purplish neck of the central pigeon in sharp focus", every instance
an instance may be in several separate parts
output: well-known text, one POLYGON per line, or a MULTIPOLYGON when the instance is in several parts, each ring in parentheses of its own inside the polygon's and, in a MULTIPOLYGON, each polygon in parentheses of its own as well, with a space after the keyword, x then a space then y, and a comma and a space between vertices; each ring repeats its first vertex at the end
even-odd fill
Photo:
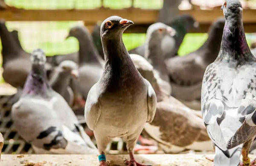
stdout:
POLYGON ((125 48, 122 35, 111 39, 102 38, 102 46, 105 55, 105 67, 100 82, 103 86, 109 91, 114 91, 121 86, 133 88, 141 83, 142 79, 125 48), (133 79, 127 80, 127 78, 133 79))

